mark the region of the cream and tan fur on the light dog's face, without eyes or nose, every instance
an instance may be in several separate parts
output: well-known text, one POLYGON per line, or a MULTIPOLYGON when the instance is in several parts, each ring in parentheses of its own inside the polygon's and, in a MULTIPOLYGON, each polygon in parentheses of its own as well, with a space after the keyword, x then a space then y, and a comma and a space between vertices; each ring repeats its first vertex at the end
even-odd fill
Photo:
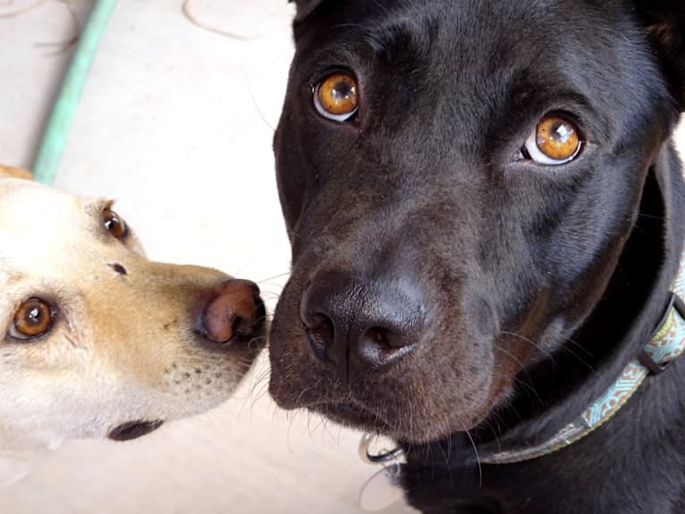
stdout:
POLYGON ((258 341, 216 351, 193 333, 193 306, 227 275, 150 262, 132 234, 106 232, 108 205, 0 178, 0 454, 211 409, 257 355, 258 341), (13 313, 32 297, 58 306, 55 325, 13 340, 13 313))

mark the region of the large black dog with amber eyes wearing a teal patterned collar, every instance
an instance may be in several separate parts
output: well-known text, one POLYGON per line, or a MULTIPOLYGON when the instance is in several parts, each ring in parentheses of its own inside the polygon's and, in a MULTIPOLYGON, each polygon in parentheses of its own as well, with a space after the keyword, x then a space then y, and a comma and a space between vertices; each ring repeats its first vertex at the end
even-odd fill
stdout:
POLYGON ((685 316, 685 3, 297 7, 278 404, 395 438, 424 512, 685 512, 683 341, 643 350, 685 316))

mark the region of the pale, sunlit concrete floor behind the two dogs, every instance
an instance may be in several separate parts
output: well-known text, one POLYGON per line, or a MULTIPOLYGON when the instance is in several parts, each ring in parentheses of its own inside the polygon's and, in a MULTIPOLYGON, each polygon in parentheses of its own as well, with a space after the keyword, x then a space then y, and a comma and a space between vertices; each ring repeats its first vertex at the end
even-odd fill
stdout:
MULTIPOLYGON (((69 52, 66 4, 0 0, 0 162, 30 166, 69 52), (11 51, 8 51, 11 50, 11 51)), ((72 0, 83 21, 91 0, 72 0)), ((271 138, 292 55, 285 0, 120 0, 90 74, 57 185, 117 198, 150 257, 260 283, 289 269, 271 138)), ((220 409, 138 441, 72 442, 0 493, 0 512, 354 513, 375 468, 359 434, 287 415, 265 367, 220 409), (261 377, 261 380, 259 379, 261 377)), ((394 507, 388 512, 408 512, 394 507)))

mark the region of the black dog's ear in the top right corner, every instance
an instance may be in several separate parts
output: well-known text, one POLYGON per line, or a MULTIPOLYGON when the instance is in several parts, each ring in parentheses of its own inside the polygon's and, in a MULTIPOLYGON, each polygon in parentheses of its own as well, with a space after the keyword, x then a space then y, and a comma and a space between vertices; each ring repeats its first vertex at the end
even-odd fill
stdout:
POLYGON ((685 111, 685 0, 635 0, 672 95, 685 111))

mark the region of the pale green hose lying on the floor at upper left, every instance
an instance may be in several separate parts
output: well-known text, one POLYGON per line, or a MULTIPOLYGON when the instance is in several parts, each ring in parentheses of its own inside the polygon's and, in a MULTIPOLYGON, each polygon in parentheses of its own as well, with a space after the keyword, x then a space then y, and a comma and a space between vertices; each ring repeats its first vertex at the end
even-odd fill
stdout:
POLYGON ((62 88, 47 119, 38 154, 33 162, 36 181, 51 184, 66 146, 76 108, 79 105, 90 66, 97 54, 97 46, 105 32, 107 21, 114 11, 116 0, 96 0, 88 22, 81 32, 72 62, 66 72, 62 88))

